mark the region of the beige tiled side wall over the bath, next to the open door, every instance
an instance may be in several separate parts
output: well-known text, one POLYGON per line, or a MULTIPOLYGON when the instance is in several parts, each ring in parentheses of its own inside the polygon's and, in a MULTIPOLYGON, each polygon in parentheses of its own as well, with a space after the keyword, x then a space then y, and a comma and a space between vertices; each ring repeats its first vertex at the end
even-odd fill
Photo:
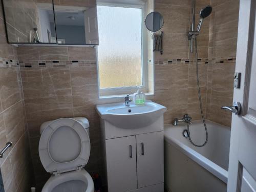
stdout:
POLYGON ((207 119, 230 126, 231 114, 220 106, 232 105, 233 101, 239 0, 211 0, 211 5, 214 9, 209 28, 207 119))

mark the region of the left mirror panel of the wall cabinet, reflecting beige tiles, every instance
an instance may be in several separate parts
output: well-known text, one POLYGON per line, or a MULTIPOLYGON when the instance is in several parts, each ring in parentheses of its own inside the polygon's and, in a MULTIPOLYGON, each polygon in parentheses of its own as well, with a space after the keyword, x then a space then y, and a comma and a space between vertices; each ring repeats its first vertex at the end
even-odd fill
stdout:
POLYGON ((3 0, 10 44, 56 44, 53 3, 47 0, 3 0))

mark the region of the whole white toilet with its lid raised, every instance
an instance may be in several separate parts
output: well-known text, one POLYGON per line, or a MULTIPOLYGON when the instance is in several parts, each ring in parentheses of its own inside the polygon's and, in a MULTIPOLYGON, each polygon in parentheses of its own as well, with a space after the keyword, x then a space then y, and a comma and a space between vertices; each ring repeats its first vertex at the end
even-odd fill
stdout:
POLYGON ((87 118, 44 122, 40 134, 40 160, 52 174, 42 192, 94 192, 93 179, 83 168, 91 148, 87 118))

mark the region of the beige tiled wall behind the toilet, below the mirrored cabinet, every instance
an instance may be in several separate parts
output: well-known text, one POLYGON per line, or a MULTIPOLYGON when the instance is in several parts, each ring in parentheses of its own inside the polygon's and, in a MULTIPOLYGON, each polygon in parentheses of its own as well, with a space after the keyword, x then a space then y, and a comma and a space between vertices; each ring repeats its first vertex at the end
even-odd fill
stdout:
POLYGON ((95 111, 95 105, 105 101, 98 99, 94 48, 19 47, 17 50, 20 65, 32 66, 21 67, 20 71, 38 189, 49 178, 38 155, 39 128, 41 123, 48 120, 87 117, 90 122, 91 155, 86 169, 92 174, 101 173, 103 161, 99 116, 95 111), (59 63, 53 63, 52 67, 48 65, 51 60, 59 63), (71 65, 74 60, 79 62, 71 65), (39 67, 38 61, 46 63, 46 66, 39 67))

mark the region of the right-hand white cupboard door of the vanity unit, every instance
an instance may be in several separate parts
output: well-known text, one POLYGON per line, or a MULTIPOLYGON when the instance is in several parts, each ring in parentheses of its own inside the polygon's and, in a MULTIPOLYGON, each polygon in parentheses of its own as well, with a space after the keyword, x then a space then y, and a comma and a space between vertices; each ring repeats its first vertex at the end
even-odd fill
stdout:
POLYGON ((163 132, 136 137, 138 188, 163 183, 163 132))

